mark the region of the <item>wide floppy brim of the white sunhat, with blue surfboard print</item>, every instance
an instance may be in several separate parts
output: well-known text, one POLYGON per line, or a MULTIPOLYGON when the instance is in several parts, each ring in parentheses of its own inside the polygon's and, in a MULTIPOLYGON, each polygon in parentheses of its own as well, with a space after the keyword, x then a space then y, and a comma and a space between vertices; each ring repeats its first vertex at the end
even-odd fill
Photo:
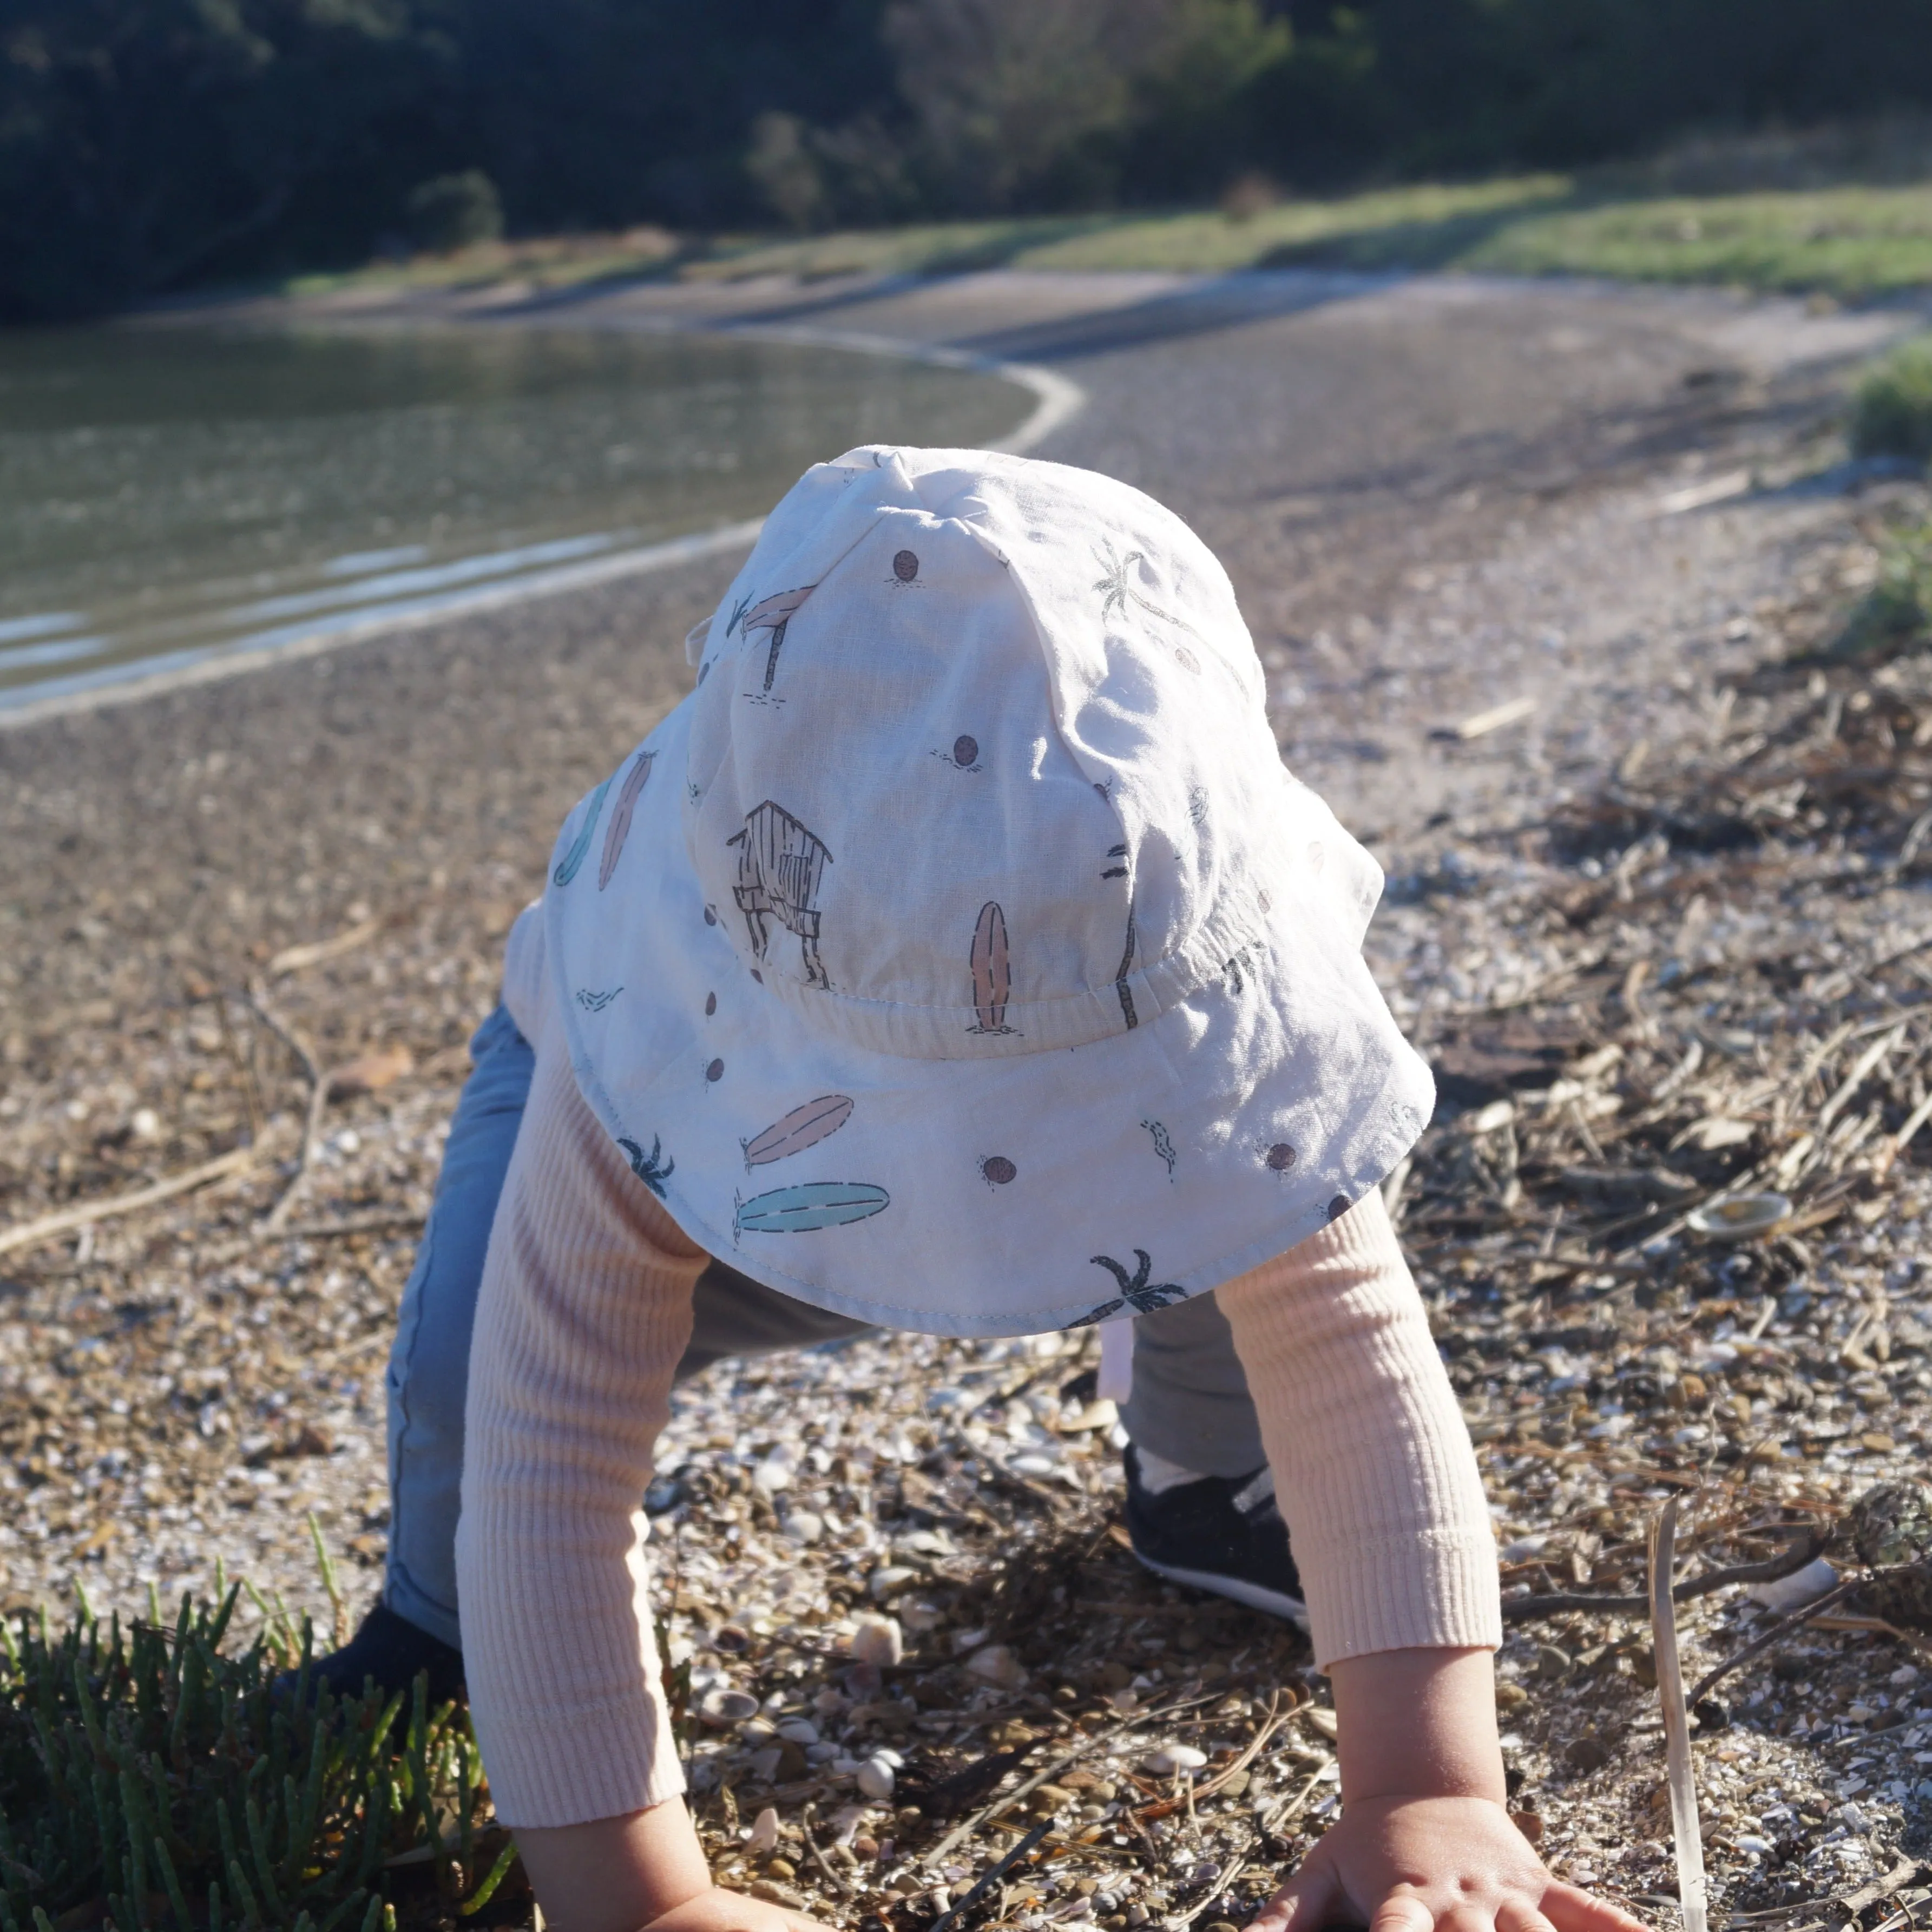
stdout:
POLYGON ((1341 883, 1379 875, 1314 792, 1285 781, 1281 838, 1316 860, 1219 978, 1086 1045, 914 1059, 815 1030, 705 906, 688 728, 686 701, 558 835, 549 981, 639 1186, 753 1281, 939 1335, 1148 1312, 1312 1235, 1428 1121, 1341 883), (1325 885, 1323 850, 1358 864, 1325 885))

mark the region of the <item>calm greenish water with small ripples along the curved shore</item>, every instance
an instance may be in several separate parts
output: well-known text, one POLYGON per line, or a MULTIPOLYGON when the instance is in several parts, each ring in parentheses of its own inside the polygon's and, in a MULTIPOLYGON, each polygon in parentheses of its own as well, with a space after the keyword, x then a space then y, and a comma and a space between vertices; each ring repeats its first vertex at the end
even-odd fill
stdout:
POLYGON ((728 336, 0 334, 0 709, 527 587, 759 516, 852 444, 981 446, 1030 408, 728 336))

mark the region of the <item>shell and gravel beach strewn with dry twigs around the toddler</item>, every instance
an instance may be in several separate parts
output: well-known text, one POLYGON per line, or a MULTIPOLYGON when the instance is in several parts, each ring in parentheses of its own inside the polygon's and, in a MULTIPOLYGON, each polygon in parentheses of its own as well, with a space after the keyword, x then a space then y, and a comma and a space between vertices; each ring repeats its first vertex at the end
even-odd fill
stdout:
MULTIPOLYGON (((1764 668, 1830 636, 1886 520, 1924 514, 1833 440, 1845 359, 1897 317, 976 276, 568 319, 723 303, 1049 361, 1092 400, 1043 454, 1155 491, 1227 560, 1285 755, 1389 869, 1372 960, 1447 1097, 1399 1208, 1511 1588, 1640 1588, 1673 1492, 1694 1561, 1754 1561, 1922 1468, 1932 1202, 1895 1142, 1932 1066, 1899 951, 1932 943, 1909 833, 1932 696, 1909 667, 1764 668), (1777 1240, 1675 1225, 1725 1184, 1793 1198, 1777 1240)), ((135 1609, 220 1559, 327 1629, 311 1515, 350 1609, 375 1588, 381 1362, 464 1039, 560 813, 676 697, 728 574, 0 736, 0 1211, 234 1157, 0 1248, 6 1607, 85 1584, 135 1609)), ((1090 1349, 891 1339, 680 1397, 655 1542, 738 1882, 922 1926, 1037 1818, 987 1920, 1211 1926, 1333 1812, 1298 1634, 1121 1548, 1090 1349)), ((1876 1926, 1911 1897, 1932 1677, 1911 1605, 1874 1629, 1874 1602, 1733 1677, 1698 1743, 1733 1915, 1876 1926)), ((1689 1667, 1768 1615, 1698 1600, 1689 1667)), ((1642 1619, 1524 1619, 1501 1702, 1546 1853, 1667 1918, 1650 1669, 1642 1619)))

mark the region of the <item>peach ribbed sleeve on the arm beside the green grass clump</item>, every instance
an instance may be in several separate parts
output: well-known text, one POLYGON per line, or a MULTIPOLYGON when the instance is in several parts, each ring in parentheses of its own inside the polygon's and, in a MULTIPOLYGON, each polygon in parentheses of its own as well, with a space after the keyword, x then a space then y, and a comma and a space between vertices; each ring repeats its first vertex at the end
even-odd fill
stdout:
POLYGON ((707 1256, 545 1030, 469 1350, 456 1577, 498 1816, 583 1824, 684 1789, 651 1636, 643 1488, 707 1256))

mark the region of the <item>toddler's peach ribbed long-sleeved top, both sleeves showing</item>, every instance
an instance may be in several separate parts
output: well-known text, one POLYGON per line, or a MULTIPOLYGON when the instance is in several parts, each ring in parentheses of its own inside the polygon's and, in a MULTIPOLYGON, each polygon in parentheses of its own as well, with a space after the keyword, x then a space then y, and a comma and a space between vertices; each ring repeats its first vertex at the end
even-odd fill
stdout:
MULTIPOLYGON (((508 968, 537 1070, 477 1306, 456 1559, 471 1714, 516 1828, 684 1789, 639 1503, 707 1256, 583 1103, 533 918, 508 968)), ((1381 1196, 1225 1283, 1219 1302, 1318 1660, 1501 1642, 1476 1457, 1381 1196)))

